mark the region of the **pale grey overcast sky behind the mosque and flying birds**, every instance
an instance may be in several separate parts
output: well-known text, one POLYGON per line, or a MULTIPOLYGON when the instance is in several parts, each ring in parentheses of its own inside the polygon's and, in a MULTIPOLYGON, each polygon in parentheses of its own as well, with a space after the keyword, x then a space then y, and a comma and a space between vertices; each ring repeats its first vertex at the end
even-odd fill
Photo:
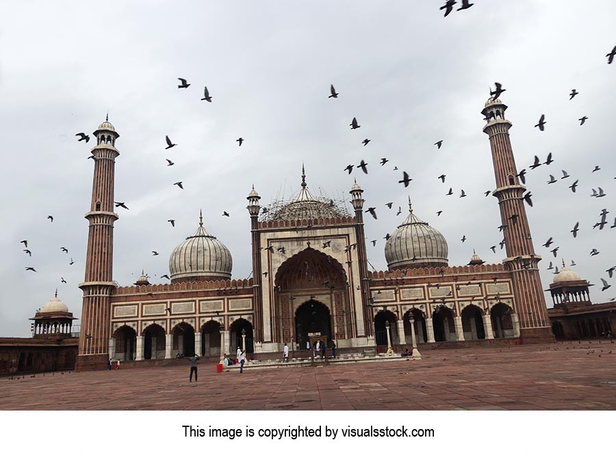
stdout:
POLYGON ((405 218, 409 195, 415 213, 445 235, 451 266, 466 264, 473 248, 485 261, 502 261, 504 250, 489 249, 502 238, 498 203, 483 196, 495 181, 480 111, 495 81, 506 88, 501 99, 513 122, 518 170, 535 154, 554 157, 549 167, 528 170, 526 181, 543 287, 554 277, 548 263, 560 267, 563 257, 597 285, 594 302, 616 296, 616 285, 601 292, 599 280, 616 264, 616 229, 592 229, 602 208, 611 211, 610 224, 616 216, 616 63, 604 57, 616 45, 616 3, 476 0, 446 18, 442 3, 4 3, 0 336, 29 335, 27 318, 56 287, 81 316, 77 285, 84 280, 93 162, 92 140, 77 142, 75 133, 92 135, 107 111, 120 134, 116 200, 130 208, 116 209, 120 285, 135 282, 142 269, 161 283, 171 251, 198 226, 199 209, 207 230, 231 250, 233 278, 246 278, 246 195, 254 183, 264 204, 289 197, 299 188, 302 163, 315 194, 322 187, 348 197, 357 177, 365 206, 378 215, 365 217, 368 240, 378 240, 368 243, 378 270, 387 268, 382 238, 405 218), (190 88, 179 90, 177 77, 190 88), (331 83, 338 99, 328 99, 331 83), (200 101, 203 86, 212 103, 200 101), (580 94, 569 101, 572 88, 580 94), (541 114, 543 132, 533 127, 541 114), (354 116, 361 128, 352 131, 354 116), (178 146, 165 150, 165 135, 178 146), (364 147, 365 138, 371 142, 364 147), (384 167, 381 157, 389 159, 384 167), (344 171, 361 159, 369 174, 344 171), (601 170, 592 173, 595 165, 601 170), (401 170, 413 178, 408 189, 397 182, 401 170), (549 174, 560 178, 561 170, 572 177, 548 185, 549 174), (567 186, 575 179, 572 194, 567 186), (445 196, 449 187, 454 196, 445 196), (591 198, 592 187, 606 196, 591 198), (461 189, 466 198, 459 198, 461 189), (390 201, 392 210, 385 207, 390 201), (541 247, 550 236, 560 247, 556 259, 541 247), (28 240, 31 257, 21 240, 28 240), (600 255, 589 256, 592 248, 600 255))

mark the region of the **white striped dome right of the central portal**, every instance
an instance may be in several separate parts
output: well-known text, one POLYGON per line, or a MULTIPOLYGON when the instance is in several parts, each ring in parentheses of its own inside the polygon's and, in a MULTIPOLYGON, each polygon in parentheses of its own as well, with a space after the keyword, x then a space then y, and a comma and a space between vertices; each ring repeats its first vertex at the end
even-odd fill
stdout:
POLYGON ((385 243, 387 268, 427 268, 448 266, 445 237, 420 220, 409 203, 409 216, 385 243))

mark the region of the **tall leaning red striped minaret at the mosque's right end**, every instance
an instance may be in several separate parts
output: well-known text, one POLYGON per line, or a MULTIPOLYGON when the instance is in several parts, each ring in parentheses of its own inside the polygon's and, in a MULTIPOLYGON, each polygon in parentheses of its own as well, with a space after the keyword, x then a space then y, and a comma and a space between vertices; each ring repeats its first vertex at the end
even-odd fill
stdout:
POLYGON ((506 109, 500 99, 490 98, 481 112, 487 121, 483 131, 489 135, 496 175, 492 195, 498 198, 501 225, 506 225, 503 234, 507 257, 503 263, 513 276, 520 339, 526 343, 554 341, 537 267, 541 257, 535 255, 532 246, 523 198, 526 187, 517 176, 509 140, 512 125, 504 118, 506 109))

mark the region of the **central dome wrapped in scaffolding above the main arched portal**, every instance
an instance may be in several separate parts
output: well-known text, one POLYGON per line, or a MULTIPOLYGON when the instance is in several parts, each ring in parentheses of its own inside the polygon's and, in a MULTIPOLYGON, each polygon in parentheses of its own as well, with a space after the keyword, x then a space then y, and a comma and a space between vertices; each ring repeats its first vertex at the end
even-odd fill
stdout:
POLYGON ((261 213, 261 220, 313 220, 348 217, 345 200, 313 196, 308 190, 302 166, 300 190, 290 200, 275 200, 261 213))

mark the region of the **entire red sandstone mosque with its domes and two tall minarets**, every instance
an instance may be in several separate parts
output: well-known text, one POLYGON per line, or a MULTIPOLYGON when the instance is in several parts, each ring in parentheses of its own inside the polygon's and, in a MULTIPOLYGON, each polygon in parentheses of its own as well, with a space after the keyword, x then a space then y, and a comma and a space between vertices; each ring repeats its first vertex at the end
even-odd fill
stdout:
POLYGON ((240 347, 251 354, 294 351, 317 339, 338 348, 396 348, 412 343, 517 339, 554 341, 517 179, 506 105, 489 99, 483 114, 489 135, 506 259, 450 266, 439 231, 409 215, 385 245, 387 271, 369 272, 363 231, 363 190, 344 203, 313 196, 301 175, 290 200, 269 207, 248 194, 253 278, 233 280, 231 253, 200 216, 195 233, 170 256, 170 283, 113 283, 114 127, 94 135, 94 183, 79 369, 123 361, 172 359, 178 354, 220 357, 240 347), (389 333, 389 334, 388 334, 389 333))

